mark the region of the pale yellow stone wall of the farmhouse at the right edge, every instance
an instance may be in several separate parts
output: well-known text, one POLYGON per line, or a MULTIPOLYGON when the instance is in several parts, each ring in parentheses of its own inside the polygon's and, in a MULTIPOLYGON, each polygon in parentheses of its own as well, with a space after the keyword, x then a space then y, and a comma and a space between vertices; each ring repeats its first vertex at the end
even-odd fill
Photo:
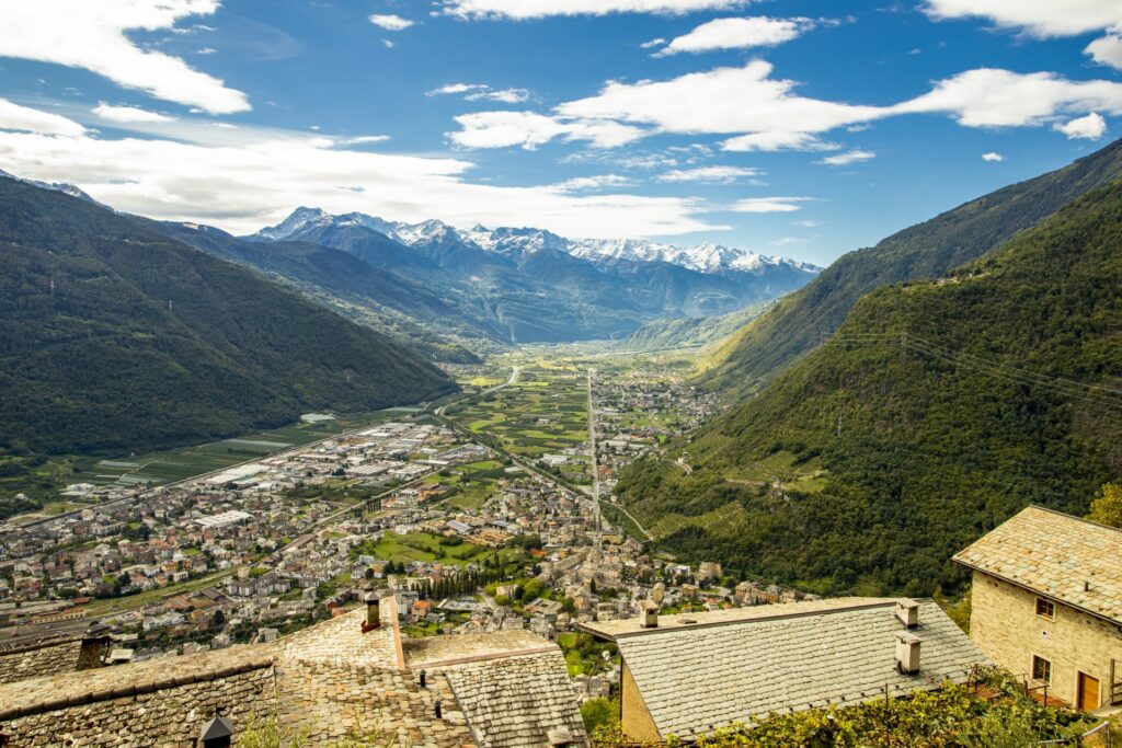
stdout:
POLYGON ((1037 595, 974 572, 971 638, 995 663, 1018 676, 1032 673, 1032 656, 1051 661, 1049 695, 1076 702, 1077 673, 1098 678, 1100 699, 1110 699, 1111 659, 1122 680, 1122 630, 1118 626, 1056 602, 1056 620, 1037 616, 1037 595))

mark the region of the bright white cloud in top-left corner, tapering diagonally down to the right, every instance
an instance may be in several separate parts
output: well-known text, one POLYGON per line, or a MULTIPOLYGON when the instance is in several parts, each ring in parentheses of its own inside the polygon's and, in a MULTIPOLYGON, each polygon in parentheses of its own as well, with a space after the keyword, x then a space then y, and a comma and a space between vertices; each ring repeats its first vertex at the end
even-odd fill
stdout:
POLYGON ((247 111, 241 91, 178 57, 141 49, 125 34, 171 29, 181 18, 210 15, 218 6, 218 0, 9 0, 0 24, 0 57, 80 67, 214 114, 247 111))

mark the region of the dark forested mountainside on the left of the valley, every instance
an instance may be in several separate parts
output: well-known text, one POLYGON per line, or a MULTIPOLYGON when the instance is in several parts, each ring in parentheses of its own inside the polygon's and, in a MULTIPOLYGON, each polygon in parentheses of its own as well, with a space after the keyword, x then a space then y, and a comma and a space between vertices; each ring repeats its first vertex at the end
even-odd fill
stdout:
POLYGON ((0 178, 0 445, 151 450, 454 388, 413 352, 77 198, 0 178))

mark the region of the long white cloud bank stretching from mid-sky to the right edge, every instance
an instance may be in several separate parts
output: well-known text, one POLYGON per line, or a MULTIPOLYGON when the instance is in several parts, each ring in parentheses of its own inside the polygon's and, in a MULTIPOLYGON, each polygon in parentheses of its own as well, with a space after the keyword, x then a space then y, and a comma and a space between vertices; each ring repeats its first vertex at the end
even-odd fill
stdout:
POLYGON ((728 151, 836 150, 824 132, 902 114, 946 113, 965 127, 1032 127, 1092 111, 1122 114, 1122 83, 1069 81, 1056 73, 972 70, 910 101, 873 107, 801 96, 793 81, 771 77, 772 70, 756 59, 666 81, 609 81, 598 94, 550 113, 462 116, 457 118, 462 130, 449 137, 468 148, 534 148, 555 138, 609 148, 656 133, 728 135, 721 144, 728 151))

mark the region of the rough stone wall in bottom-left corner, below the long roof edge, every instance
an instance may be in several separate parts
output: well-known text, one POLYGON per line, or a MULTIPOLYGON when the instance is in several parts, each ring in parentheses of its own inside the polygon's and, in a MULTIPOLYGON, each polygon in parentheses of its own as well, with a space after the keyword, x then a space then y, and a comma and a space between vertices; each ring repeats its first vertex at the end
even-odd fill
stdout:
MULTIPOLYGON (((113 692, 100 694, 111 696, 113 692)), ((194 748, 215 708, 243 730, 276 710, 273 667, 248 669, 185 685, 157 687, 132 696, 94 700, 7 720, 12 748, 39 746, 117 746, 119 748, 194 748)), ((49 694, 44 694, 48 698, 49 694)))

